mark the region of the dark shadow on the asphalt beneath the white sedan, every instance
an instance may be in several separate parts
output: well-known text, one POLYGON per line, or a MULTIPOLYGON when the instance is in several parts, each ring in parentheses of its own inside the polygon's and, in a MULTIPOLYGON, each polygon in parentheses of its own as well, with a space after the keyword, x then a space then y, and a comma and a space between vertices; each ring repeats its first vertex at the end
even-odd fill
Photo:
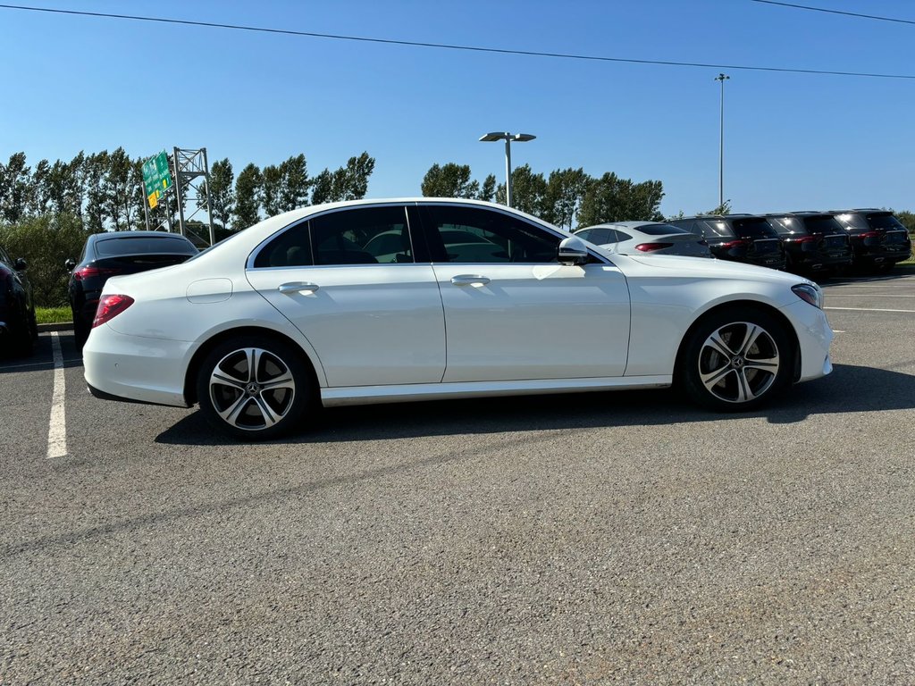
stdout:
MULTIPOLYGON (((601 391, 524 395, 460 401, 404 402, 330 408, 312 426, 277 443, 309 444, 456 434, 492 434, 601 426, 652 426, 761 417, 798 423, 813 414, 864 413, 915 408, 915 375, 869 367, 836 365, 817 381, 791 387, 770 407, 755 413, 713 413, 671 390, 601 391)), ((210 427, 200 413, 156 436, 166 445, 237 445, 210 427)))

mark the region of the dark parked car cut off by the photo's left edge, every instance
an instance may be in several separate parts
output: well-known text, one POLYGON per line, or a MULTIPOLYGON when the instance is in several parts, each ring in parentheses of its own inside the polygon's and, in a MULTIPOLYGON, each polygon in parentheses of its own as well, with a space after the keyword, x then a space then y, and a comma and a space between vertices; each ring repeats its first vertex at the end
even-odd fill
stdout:
POLYGON ((28 355, 38 339, 32 286, 26 261, 12 260, 0 248, 0 351, 28 355))

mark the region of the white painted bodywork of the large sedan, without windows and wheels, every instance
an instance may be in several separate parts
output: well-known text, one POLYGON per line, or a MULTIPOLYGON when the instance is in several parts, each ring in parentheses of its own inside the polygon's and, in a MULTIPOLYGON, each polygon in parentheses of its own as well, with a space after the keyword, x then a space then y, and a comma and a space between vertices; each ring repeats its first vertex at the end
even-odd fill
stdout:
MULTIPOLYGON (((791 293, 792 285, 811 282, 747 264, 592 246, 607 264, 247 268, 257 246, 313 213, 430 199, 300 209, 187 263, 109 279, 104 295, 130 295, 136 303, 92 329, 83 348, 87 383, 123 399, 185 406, 194 354, 213 337, 257 328, 303 350, 327 404, 664 386, 696 318, 735 301, 769 306, 790 322, 801 381, 831 370, 833 334, 823 310, 791 293), (487 275, 490 283, 452 284, 460 275, 487 275), (289 282, 318 290, 276 290, 289 282), (529 291, 534 285, 545 288, 529 291)), ((506 211, 478 201, 436 202, 506 211)))

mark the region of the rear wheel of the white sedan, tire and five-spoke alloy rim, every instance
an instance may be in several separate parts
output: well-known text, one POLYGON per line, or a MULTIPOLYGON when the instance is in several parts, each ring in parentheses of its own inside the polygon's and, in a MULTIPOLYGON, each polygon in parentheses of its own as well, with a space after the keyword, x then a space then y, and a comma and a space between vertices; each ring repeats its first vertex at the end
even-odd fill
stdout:
POLYGON ((303 355, 269 337, 222 342, 200 365, 200 412, 221 432, 245 441, 266 441, 300 428, 318 406, 303 355))

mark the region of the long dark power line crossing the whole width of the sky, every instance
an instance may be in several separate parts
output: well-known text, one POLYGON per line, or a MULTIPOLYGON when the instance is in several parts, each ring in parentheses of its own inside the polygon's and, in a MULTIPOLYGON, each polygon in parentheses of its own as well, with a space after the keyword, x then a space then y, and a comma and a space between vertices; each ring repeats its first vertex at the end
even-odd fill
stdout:
MULTIPOLYGON (((762 0, 759 0, 762 2, 762 0)), ((525 57, 542 57, 556 59, 582 59, 597 62, 618 62, 626 64, 653 64, 664 67, 697 67, 716 70, 745 70, 745 71, 775 71, 790 74, 824 74, 828 76, 856 76, 868 79, 907 79, 915 80, 913 74, 881 74, 864 71, 829 71, 829 70, 802 70, 780 67, 758 67, 740 64, 710 64, 705 62, 677 62, 663 59, 628 59, 600 57, 597 55, 576 55, 562 52, 540 52, 535 50, 511 50, 508 48, 481 48, 479 46, 450 45, 447 43, 427 43, 414 40, 393 40, 391 38, 366 38, 361 36, 344 36, 339 34, 315 33, 312 31, 293 31, 287 28, 249 27, 240 24, 221 24, 209 21, 192 21, 190 19, 169 19, 161 16, 136 16, 116 15, 104 12, 81 12, 70 9, 52 9, 50 7, 29 7, 25 5, 0 5, 0 9, 17 9, 27 12, 46 12, 57 15, 93 16, 106 19, 127 19, 131 21, 156 22, 160 24, 179 24, 188 27, 227 28, 235 31, 251 31, 256 33, 278 34, 284 36, 299 36, 306 38, 328 38, 332 40, 351 40, 361 43, 381 43, 382 45, 399 45, 413 48, 439 48, 447 50, 465 50, 469 52, 488 52, 500 55, 522 55, 525 57)))

